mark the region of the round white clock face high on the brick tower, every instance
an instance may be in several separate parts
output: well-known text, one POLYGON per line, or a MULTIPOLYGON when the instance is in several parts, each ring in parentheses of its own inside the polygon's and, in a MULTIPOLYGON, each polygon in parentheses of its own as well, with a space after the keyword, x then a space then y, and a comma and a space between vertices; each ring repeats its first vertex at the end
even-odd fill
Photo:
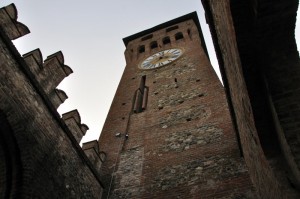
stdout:
POLYGON ((171 48, 168 50, 160 51, 142 61, 139 65, 139 68, 153 69, 165 66, 178 59, 182 55, 182 53, 183 50, 180 48, 171 48))

